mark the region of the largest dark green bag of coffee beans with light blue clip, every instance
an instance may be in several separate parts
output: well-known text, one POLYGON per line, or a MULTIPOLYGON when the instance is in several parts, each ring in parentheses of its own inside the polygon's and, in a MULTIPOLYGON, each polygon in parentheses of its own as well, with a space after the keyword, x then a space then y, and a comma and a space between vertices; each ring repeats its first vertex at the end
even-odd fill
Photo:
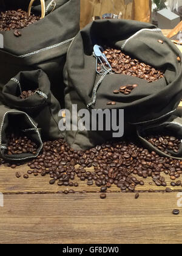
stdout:
MULTIPOLYGON (((181 99, 181 79, 181 52, 157 27, 93 21, 76 35, 67 53, 66 108, 123 109, 124 133, 129 133, 132 126, 172 115, 181 99)), ((67 131, 67 141, 87 149, 112 139, 110 135, 106 130, 67 131)))

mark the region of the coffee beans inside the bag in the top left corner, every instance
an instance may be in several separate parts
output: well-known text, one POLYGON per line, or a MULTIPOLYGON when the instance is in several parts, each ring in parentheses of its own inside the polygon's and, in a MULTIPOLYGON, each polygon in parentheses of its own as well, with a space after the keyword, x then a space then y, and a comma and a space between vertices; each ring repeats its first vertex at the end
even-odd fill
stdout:
POLYGON ((28 15, 22 9, 18 10, 7 10, 0 13, 0 31, 9 31, 15 29, 15 36, 19 37, 21 32, 17 29, 23 29, 33 23, 36 23, 40 19, 39 16, 34 14, 28 15))

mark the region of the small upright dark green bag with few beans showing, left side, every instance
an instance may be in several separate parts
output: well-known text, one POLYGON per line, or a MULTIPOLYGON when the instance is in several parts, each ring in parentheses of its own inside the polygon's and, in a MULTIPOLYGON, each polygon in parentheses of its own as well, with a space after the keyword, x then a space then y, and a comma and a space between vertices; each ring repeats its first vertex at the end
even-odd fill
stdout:
POLYGON ((50 81, 41 69, 22 71, 2 89, 2 101, 10 108, 27 113, 41 129, 44 140, 62 137, 58 127, 58 100, 50 91, 50 81))

